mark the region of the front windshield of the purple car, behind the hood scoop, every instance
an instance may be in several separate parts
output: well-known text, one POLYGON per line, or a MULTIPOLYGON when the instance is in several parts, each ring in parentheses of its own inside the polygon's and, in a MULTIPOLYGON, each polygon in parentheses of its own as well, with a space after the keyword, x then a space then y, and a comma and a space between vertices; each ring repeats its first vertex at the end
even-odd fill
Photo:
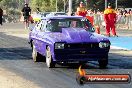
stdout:
POLYGON ((93 26, 87 19, 50 19, 47 23, 47 31, 61 32, 62 28, 84 28, 89 32, 94 32, 93 26))

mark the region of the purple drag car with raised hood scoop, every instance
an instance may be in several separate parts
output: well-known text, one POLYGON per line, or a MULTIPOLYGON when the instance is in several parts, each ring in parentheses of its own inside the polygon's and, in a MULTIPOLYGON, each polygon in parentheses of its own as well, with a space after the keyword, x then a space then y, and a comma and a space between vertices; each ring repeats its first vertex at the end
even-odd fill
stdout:
POLYGON ((35 62, 46 60, 49 68, 56 63, 98 61, 108 64, 110 41, 94 32, 89 20, 80 16, 45 17, 29 35, 35 62), (45 58, 44 58, 45 57, 45 58))

